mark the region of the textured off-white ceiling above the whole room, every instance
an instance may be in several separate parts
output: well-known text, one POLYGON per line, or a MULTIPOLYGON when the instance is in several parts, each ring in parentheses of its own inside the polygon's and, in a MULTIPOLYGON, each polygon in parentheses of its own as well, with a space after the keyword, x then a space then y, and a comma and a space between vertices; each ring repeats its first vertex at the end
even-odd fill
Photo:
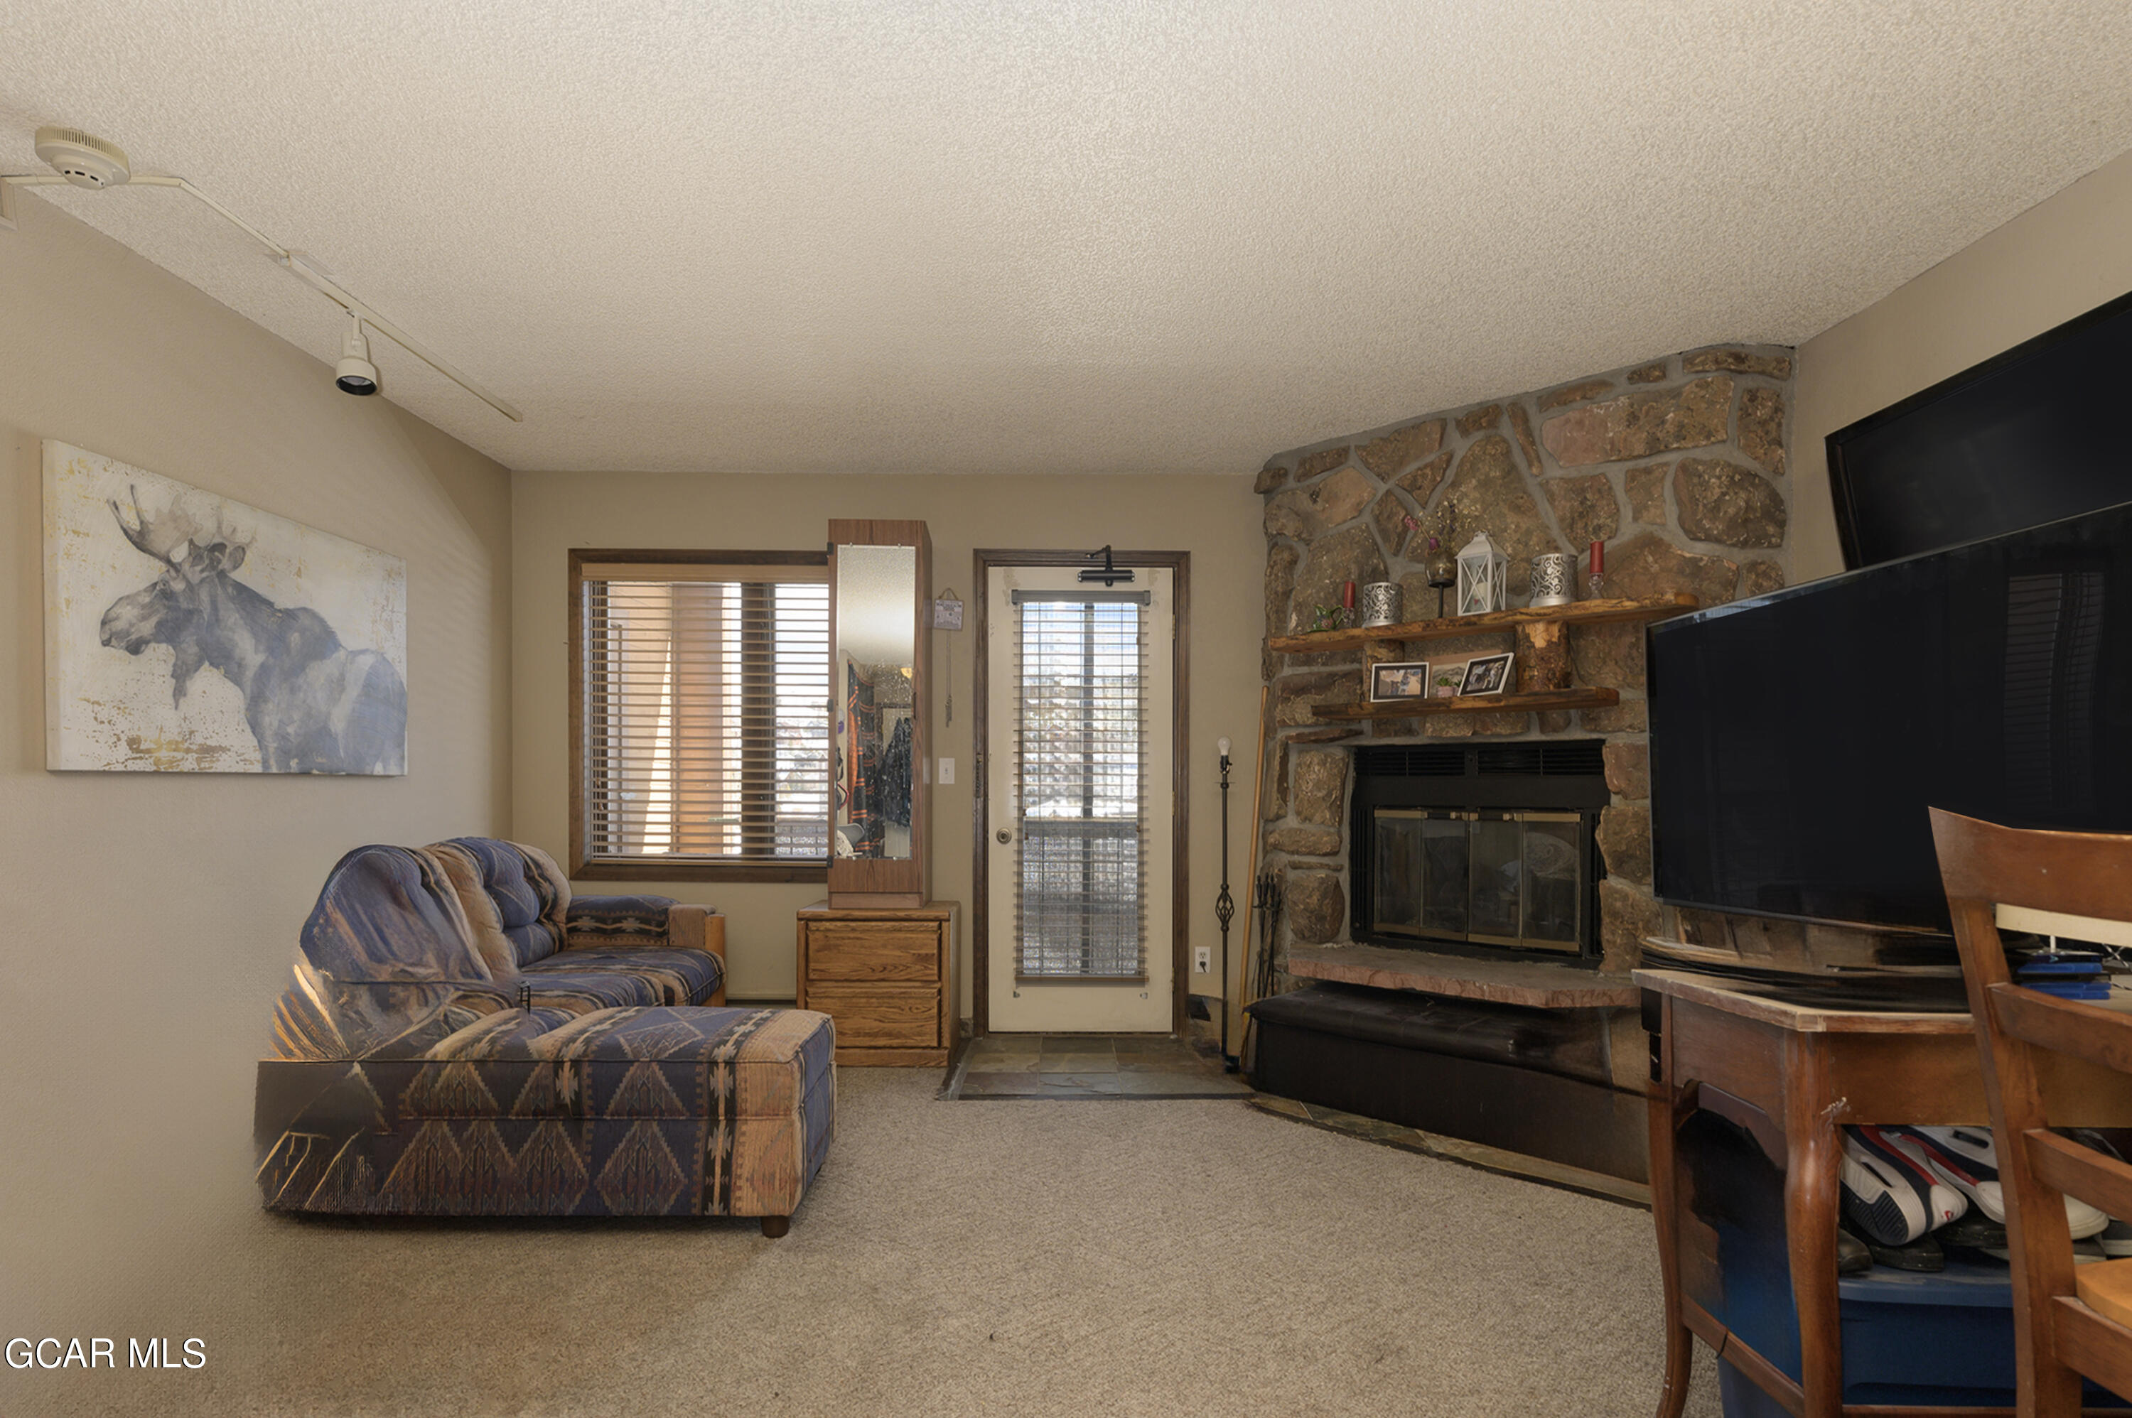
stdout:
MULTIPOLYGON (((0 171, 194 179, 512 467, 1239 473, 1806 339, 2132 147, 2128 66, 2123 0, 9 0, 0 171)), ((188 198, 47 200, 335 358, 188 198)))

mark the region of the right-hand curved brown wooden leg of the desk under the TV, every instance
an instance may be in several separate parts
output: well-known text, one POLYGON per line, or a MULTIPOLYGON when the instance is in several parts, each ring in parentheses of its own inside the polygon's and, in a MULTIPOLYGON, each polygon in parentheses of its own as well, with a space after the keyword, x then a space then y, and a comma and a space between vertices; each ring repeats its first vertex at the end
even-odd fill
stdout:
POLYGON ((1827 1060, 1812 1036, 1784 1049, 1784 1245, 1799 1309, 1802 1418, 1840 1418, 1844 1341, 1836 1299, 1836 1203, 1842 1139, 1827 1096, 1827 1060))

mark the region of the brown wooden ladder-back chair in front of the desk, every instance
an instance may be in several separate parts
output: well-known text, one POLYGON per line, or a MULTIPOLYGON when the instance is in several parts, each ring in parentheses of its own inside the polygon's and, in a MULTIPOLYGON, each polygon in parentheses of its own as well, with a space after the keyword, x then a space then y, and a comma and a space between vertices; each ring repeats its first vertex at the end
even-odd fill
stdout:
POLYGON ((2132 1218, 2132 1166, 2049 1130, 2040 1056, 2132 1073, 2132 1015, 2015 985, 1998 928, 2132 942, 2132 836, 2021 832, 1934 808, 1932 838, 2006 1196, 2017 1412, 2070 1418, 2081 1412, 2081 1375, 2132 1397, 2132 1260, 2077 1267, 2064 1198, 2132 1218))

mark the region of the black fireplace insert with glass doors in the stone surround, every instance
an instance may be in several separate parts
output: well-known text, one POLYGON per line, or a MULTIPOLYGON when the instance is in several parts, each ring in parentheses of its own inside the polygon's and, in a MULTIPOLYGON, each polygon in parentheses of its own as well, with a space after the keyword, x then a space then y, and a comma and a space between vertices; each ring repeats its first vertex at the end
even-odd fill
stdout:
POLYGON ((1354 751, 1350 934, 1599 960, 1605 740, 1354 751))

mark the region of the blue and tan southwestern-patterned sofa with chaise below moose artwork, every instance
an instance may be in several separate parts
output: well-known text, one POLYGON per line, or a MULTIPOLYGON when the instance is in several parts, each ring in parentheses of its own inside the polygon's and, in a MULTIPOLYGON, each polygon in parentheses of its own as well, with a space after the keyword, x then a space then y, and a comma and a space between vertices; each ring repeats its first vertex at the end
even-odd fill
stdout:
POLYGON ((571 898, 533 847, 358 847, 305 921, 260 1060, 275 1211, 757 1215, 836 1126, 827 1015, 721 1009, 725 921, 571 898))

